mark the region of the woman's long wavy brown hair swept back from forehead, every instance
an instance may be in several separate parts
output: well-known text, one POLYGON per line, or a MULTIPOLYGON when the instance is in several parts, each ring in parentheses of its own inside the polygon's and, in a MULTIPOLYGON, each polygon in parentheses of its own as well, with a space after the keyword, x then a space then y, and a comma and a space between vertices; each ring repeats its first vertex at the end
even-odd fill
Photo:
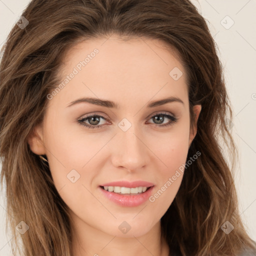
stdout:
POLYGON ((231 173, 237 149, 226 121, 232 120, 232 110, 222 65, 195 6, 189 0, 32 0, 22 16, 29 23, 13 26, 0 64, 1 183, 4 178, 13 250, 15 226, 24 221, 29 226, 21 235, 26 256, 71 256, 67 205, 48 165, 30 150, 27 137, 43 119, 65 52, 78 41, 113 33, 166 42, 188 74, 191 123, 192 106, 202 106, 187 159, 198 150, 201 155, 186 168, 177 195, 161 218, 162 238, 170 252, 237 255, 245 247, 255 249, 237 212, 231 173), (227 146, 231 164, 219 139, 227 146), (225 221, 234 227, 229 234, 220 228, 225 221))

